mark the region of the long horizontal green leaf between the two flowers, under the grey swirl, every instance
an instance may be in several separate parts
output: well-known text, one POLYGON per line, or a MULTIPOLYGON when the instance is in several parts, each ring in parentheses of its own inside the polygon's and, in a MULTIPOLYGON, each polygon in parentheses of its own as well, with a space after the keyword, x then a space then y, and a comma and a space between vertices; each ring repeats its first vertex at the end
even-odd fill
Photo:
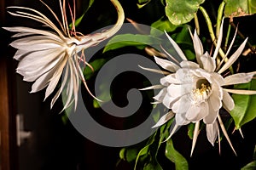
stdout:
POLYGON ((137 48, 144 48, 146 45, 160 44, 160 38, 140 34, 121 34, 109 40, 108 44, 103 50, 103 53, 123 48, 125 46, 135 46, 137 48))

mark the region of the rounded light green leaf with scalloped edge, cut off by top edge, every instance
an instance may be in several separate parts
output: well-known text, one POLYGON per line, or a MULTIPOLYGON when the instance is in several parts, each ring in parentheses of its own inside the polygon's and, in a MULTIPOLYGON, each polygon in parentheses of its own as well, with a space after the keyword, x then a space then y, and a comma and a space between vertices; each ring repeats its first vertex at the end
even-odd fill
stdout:
POLYGON ((182 25, 194 19, 204 0, 166 0, 166 16, 173 25, 182 25))

